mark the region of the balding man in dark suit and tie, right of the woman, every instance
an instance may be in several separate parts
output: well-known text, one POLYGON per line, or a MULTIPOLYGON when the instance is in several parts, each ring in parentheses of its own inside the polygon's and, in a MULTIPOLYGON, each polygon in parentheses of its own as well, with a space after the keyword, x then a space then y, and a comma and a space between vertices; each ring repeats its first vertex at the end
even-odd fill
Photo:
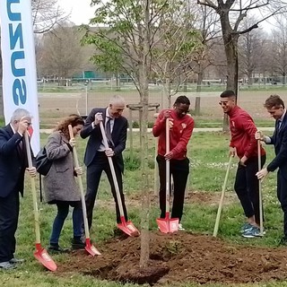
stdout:
POLYGON ((89 228, 91 229, 92 210, 100 184, 100 176, 104 170, 108 176, 112 195, 116 202, 117 223, 120 221, 120 215, 117 204, 116 190, 113 178, 109 168, 108 157, 112 158, 114 163, 117 184, 123 204, 125 218, 127 221, 125 196, 123 194, 122 173, 124 171, 124 161, 122 152, 126 148, 126 129, 127 120, 122 116, 125 109, 125 100, 120 96, 114 96, 109 100, 109 107, 106 109, 91 109, 90 115, 85 121, 85 125, 81 131, 82 138, 90 136, 84 154, 84 163, 87 167, 87 192, 85 196, 87 206, 87 217, 89 228), (102 135, 100 132, 100 122, 105 126, 107 138, 109 141, 109 149, 106 150, 102 135))

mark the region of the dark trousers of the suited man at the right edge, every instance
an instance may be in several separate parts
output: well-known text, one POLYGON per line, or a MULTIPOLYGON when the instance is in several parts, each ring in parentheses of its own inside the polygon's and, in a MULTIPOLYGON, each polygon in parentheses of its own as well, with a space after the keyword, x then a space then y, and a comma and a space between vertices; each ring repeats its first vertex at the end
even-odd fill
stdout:
POLYGON ((287 168, 277 172, 277 197, 283 210, 283 231, 287 239, 287 168))

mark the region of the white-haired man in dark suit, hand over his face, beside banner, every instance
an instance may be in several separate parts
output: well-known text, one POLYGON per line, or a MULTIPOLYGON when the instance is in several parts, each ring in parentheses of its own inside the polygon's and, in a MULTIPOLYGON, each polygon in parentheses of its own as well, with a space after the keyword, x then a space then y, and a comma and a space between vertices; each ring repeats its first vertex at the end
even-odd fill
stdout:
POLYGON ((32 177, 36 175, 36 168, 27 168, 23 140, 30 122, 30 113, 26 109, 16 109, 10 124, 0 128, 0 269, 13 269, 16 263, 23 261, 14 257, 15 232, 25 170, 32 177))

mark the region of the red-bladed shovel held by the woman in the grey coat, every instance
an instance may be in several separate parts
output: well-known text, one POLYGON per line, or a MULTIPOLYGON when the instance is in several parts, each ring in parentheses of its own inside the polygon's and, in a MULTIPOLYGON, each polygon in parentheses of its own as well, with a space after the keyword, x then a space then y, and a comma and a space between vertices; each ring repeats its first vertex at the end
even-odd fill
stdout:
MULTIPOLYGON (((70 138, 74 138, 72 126, 69 125, 68 128, 69 128, 70 138)), ((73 146, 73 155, 74 155, 74 166, 77 169, 79 168, 79 161, 78 161, 78 154, 75 149, 75 146, 73 146)), ((89 254, 91 254, 92 257, 94 257, 95 255, 100 255, 100 251, 91 244, 90 231, 89 231, 88 219, 87 219, 86 203, 84 201, 84 195, 83 195, 82 176, 78 175, 77 178, 78 178, 78 183, 79 183, 79 188, 80 188, 82 209, 83 209, 83 228, 84 228, 84 235, 86 238, 85 249, 89 254)))

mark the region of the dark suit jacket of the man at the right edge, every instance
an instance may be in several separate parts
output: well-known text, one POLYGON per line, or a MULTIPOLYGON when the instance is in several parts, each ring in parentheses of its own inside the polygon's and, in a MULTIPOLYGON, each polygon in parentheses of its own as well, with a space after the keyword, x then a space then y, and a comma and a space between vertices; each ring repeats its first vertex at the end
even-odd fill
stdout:
MULTIPOLYGON (((275 126, 277 126, 278 120, 276 120, 275 126)), ((283 117, 283 122, 280 129, 275 128, 274 135, 270 137, 271 143, 274 144, 275 158, 268 166, 268 171, 274 171, 277 168, 281 170, 287 170, 287 113, 283 117)))

